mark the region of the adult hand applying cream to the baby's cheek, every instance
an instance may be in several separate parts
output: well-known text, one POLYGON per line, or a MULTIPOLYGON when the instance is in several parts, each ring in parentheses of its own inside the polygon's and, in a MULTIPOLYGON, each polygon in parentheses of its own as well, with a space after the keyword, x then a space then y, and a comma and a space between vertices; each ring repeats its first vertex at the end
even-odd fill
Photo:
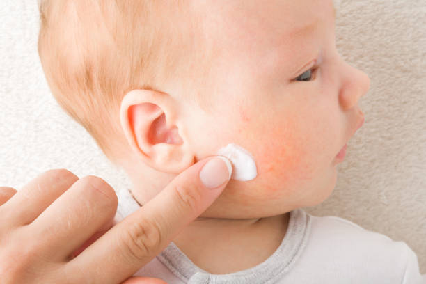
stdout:
POLYGON ((213 203, 228 166, 215 157, 198 161, 115 226, 118 199, 101 178, 57 169, 19 191, 0 187, 0 282, 165 283, 129 277, 213 203))

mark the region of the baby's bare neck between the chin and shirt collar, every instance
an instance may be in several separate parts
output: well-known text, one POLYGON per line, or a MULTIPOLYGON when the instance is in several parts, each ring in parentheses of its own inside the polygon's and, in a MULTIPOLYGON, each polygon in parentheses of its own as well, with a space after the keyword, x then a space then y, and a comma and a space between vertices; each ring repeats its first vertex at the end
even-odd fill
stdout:
POLYGON ((283 241, 289 219, 289 212, 261 219, 199 218, 173 242, 201 269, 229 274, 267 260, 283 241))

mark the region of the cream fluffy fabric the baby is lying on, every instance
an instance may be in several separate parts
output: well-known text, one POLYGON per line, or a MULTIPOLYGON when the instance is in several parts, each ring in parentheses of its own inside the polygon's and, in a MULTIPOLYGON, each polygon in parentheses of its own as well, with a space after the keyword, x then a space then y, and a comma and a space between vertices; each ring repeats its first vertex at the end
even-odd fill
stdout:
MULTIPOLYGON (((406 242, 426 273, 426 1, 342 0, 336 40, 371 88, 335 191, 305 208, 406 242)), ((37 53, 36 1, 0 1, 0 185, 21 188, 50 168, 131 187, 84 128, 58 107, 37 53)))

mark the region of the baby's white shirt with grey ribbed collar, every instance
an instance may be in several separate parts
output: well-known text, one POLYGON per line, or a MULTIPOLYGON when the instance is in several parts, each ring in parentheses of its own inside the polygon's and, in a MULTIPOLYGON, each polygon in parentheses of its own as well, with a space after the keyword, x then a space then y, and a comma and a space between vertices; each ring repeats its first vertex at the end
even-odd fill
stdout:
MULTIPOLYGON (((127 190, 118 194, 116 221, 139 209, 127 190)), ((405 242, 395 242, 337 216, 290 212, 287 232, 264 262, 231 274, 210 274, 194 265, 171 242, 134 276, 183 283, 404 283, 426 284, 416 254, 405 242)))

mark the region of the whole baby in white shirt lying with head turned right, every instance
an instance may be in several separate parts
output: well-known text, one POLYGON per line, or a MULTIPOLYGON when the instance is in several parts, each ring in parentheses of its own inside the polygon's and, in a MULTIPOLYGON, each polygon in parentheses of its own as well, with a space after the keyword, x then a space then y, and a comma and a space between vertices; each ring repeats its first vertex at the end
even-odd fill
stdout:
POLYGON ((40 19, 54 97, 132 180, 120 218, 230 144, 255 165, 135 275, 426 283, 404 242, 301 209, 333 191, 370 86, 338 54, 331 0, 42 0, 40 19))

